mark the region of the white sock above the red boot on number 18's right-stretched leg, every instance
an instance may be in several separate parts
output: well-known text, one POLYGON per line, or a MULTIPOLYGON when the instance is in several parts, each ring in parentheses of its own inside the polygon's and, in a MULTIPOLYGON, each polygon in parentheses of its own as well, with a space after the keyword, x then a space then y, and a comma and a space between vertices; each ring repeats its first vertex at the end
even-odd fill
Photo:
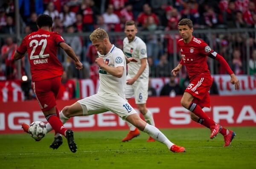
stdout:
POLYGON ((168 149, 171 149, 171 146, 174 145, 162 132, 160 132, 160 130, 157 129, 157 127, 151 126, 150 124, 146 124, 143 132, 148 133, 148 135, 150 135, 155 140, 165 144, 168 149))

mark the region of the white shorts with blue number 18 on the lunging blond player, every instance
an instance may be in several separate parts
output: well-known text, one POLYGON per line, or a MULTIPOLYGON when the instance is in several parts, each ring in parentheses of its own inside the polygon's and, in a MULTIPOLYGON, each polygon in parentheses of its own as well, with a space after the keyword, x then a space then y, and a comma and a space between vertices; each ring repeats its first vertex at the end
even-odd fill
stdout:
POLYGON ((99 114, 104 112, 113 112, 126 120, 128 115, 137 113, 127 100, 118 95, 108 93, 95 94, 77 101, 83 108, 83 115, 99 114))

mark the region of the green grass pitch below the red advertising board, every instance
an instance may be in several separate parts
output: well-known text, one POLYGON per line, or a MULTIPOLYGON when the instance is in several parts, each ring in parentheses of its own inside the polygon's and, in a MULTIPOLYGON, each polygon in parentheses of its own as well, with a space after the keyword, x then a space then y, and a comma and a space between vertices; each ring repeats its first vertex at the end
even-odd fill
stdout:
POLYGON ((256 127, 231 127, 236 132, 230 147, 223 136, 209 139, 205 128, 161 129, 186 153, 173 153, 148 135, 122 143, 128 130, 75 132, 78 146, 70 152, 64 139, 59 149, 49 149, 53 133, 41 141, 28 134, 0 135, 0 169, 255 169, 256 127))

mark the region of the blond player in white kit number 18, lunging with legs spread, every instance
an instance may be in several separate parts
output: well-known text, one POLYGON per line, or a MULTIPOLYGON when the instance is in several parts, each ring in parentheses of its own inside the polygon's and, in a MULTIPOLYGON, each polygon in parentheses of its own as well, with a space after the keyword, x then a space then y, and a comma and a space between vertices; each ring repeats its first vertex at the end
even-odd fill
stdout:
MULTIPOLYGON (((160 130, 143 121, 125 99, 125 67, 126 62, 133 61, 133 58, 127 59, 121 49, 112 45, 107 32, 102 28, 94 30, 90 34, 90 40, 99 55, 95 60, 100 67, 99 91, 93 96, 81 99, 71 106, 64 107, 60 113, 60 119, 63 124, 74 116, 93 115, 111 111, 119 115, 123 120, 129 121, 139 130, 148 133, 155 140, 165 144, 172 152, 185 152, 184 147, 173 144, 160 130)), ((50 130, 50 124, 47 124, 47 131, 50 130)))

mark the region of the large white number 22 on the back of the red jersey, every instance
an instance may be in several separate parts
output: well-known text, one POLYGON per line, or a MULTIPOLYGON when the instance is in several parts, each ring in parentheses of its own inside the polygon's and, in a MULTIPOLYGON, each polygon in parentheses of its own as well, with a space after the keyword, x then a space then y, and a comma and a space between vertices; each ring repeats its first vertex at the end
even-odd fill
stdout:
POLYGON ((32 40, 30 43, 29 43, 29 47, 32 47, 33 44, 35 43, 35 46, 33 47, 32 49, 32 52, 30 54, 30 59, 38 59, 38 58, 45 58, 45 57, 49 57, 49 54, 44 54, 44 50, 46 48, 46 45, 47 45, 47 39, 41 39, 40 42, 38 43, 38 40, 32 40), (35 53, 35 49, 38 47, 38 45, 42 45, 42 48, 41 48, 41 51, 39 53, 39 55, 33 55, 35 53))

